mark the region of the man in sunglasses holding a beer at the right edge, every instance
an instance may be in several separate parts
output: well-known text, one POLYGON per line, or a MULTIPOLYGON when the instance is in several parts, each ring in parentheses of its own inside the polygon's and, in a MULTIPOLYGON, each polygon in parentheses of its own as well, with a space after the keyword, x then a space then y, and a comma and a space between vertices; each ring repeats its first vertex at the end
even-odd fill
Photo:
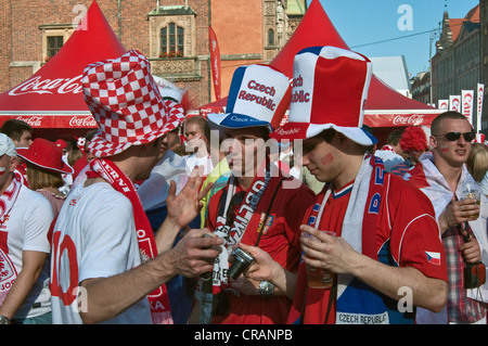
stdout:
MULTIPOLYGON (((474 181, 465 163, 476 136, 466 117, 458 112, 437 116, 431 125, 431 133, 432 153, 424 154, 404 178, 433 203, 450 264, 449 296, 447 308, 440 313, 419 309, 418 323, 486 323, 481 298, 487 297, 488 291, 484 286, 479 290, 464 287, 466 264, 479 261, 480 246, 485 254, 487 248, 488 205, 485 196, 481 194, 481 207, 472 200, 461 200, 463 183, 474 181), (479 214, 479 217, 473 220, 473 214, 479 214)), ((487 261, 487 258, 483 260, 487 261)))

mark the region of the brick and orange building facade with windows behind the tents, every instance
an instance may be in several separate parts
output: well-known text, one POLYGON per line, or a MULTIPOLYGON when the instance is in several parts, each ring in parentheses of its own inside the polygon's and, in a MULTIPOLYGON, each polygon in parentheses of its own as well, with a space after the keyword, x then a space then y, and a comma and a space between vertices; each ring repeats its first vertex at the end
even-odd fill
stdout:
MULTIPOLYGON (((69 38, 91 0, 0 0, 0 92, 30 77, 69 38)), ((208 26, 221 53, 222 95, 234 69, 267 63, 306 11, 305 0, 98 0, 126 49, 146 55, 153 74, 214 101, 208 26), (175 56, 174 56, 175 55, 175 56)))

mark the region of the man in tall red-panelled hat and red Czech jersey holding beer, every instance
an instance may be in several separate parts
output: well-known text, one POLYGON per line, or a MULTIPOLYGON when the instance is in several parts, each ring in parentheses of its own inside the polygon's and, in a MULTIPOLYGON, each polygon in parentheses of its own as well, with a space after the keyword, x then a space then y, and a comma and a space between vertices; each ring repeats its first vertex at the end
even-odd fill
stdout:
MULTIPOLYGON (((371 68, 367 57, 335 47, 295 56, 288 123, 272 136, 303 140, 304 166, 326 184, 300 226, 298 275, 273 275, 295 291, 290 323, 413 323, 415 307, 446 305, 432 204, 364 150, 375 140, 362 129, 371 68), (308 281, 307 267, 332 280, 308 281)), ((273 265, 261 259, 254 275, 273 265)))

